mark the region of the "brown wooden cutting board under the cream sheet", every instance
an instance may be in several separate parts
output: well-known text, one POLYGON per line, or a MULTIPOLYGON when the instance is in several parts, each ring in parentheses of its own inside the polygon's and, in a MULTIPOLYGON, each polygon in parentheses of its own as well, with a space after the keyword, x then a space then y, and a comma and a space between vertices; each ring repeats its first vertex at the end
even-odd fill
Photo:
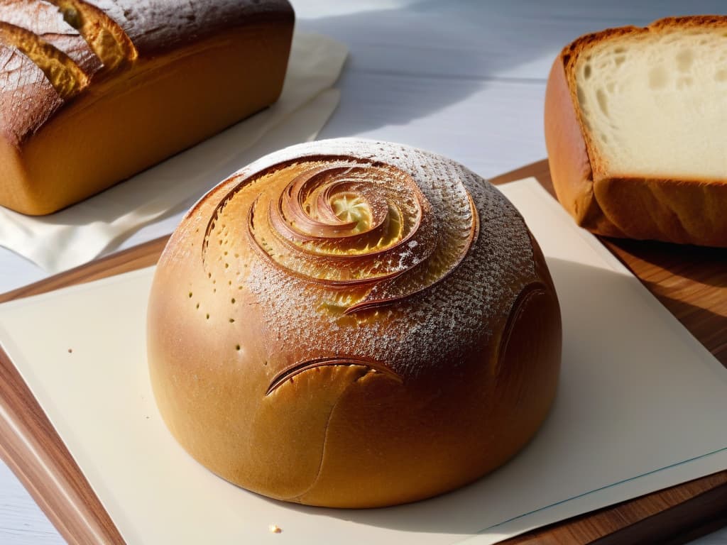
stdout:
MULTIPOLYGON (((536 177, 547 161, 491 180, 536 177)), ((601 239, 727 366, 727 250, 601 239)), ((154 265, 166 238, 0 295, 0 302, 154 265)), ((0 456, 71 544, 123 544, 118 530, 15 367, 0 350, 0 456)), ((727 525, 727 471, 518 536, 507 544, 680 544, 727 525)))

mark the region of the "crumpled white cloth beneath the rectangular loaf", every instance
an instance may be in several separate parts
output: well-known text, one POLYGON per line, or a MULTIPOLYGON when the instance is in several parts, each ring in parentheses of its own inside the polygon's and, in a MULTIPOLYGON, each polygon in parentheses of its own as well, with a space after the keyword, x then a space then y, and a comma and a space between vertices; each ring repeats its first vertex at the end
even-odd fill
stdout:
POLYGON ((88 262, 144 225, 188 208, 254 159, 314 140, 335 110, 332 85, 348 49, 326 36, 296 33, 280 100, 151 169, 44 217, 0 207, 0 245, 48 273, 88 262))

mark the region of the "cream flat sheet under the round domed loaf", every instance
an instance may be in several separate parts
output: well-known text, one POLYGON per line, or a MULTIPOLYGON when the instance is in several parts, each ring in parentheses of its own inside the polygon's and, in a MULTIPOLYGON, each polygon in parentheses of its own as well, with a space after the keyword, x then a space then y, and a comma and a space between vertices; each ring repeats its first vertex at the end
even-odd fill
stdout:
POLYGON ((534 179, 499 188, 553 273, 561 383, 513 461, 438 498, 296 506, 193 461, 166 431, 148 382, 153 268, 0 305, 0 344, 133 545, 489 544, 727 468, 727 370, 534 179))

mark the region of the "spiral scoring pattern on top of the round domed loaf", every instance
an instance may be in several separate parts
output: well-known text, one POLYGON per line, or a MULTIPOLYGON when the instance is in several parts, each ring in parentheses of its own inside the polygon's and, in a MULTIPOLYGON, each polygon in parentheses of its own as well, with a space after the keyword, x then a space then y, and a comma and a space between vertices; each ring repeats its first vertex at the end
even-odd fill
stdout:
POLYGON ((322 286, 322 306, 345 313, 438 283, 479 231, 461 182, 437 186, 390 164, 336 157, 278 165, 241 182, 209 223, 205 262, 220 252, 209 244, 212 233, 230 222, 246 222, 260 257, 322 286))

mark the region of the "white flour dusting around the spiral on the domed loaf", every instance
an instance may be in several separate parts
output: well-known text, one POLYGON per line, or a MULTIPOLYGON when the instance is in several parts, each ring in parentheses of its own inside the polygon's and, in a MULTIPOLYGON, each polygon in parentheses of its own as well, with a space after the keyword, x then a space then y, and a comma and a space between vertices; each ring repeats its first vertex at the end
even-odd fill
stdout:
MULTIPOLYGON (((210 220, 206 240, 200 245, 206 249, 206 287, 216 293, 221 290, 225 296, 238 290, 254 294, 258 304, 251 317, 257 312, 259 316, 251 319, 262 320, 273 339, 268 357, 276 360, 274 368, 295 363, 284 361, 286 355, 305 352, 311 359, 359 355, 378 360, 405 380, 436 372, 442 365, 454 369, 463 354, 482 343, 483 332, 486 336, 497 331, 527 279, 536 278, 528 230, 502 193, 458 163, 414 148, 358 140, 298 145, 239 171, 225 190, 224 196, 219 190, 212 192, 220 200, 217 210, 222 212, 210 220), (274 177, 276 165, 316 161, 322 156, 390 165, 408 173, 430 203, 431 214, 443 232, 470 225, 476 215, 478 233, 461 262, 446 278, 423 291, 344 315, 321 304, 321 293, 328 291, 335 297, 336 291, 289 275, 259 252, 241 249, 251 243, 248 236, 240 235, 246 218, 241 217, 242 208, 235 214, 236 207, 230 203, 244 191, 257 194, 255 184, 265 183, 260 174, 274 177), (385 320, 379 319, 382 315, 385 320), (333 352, 331 347, 335 347, 333 352)), ((209 211, 209 206, 205 208, 209 211)), ((483 360, 487 359, 483 354, 483 360)))

